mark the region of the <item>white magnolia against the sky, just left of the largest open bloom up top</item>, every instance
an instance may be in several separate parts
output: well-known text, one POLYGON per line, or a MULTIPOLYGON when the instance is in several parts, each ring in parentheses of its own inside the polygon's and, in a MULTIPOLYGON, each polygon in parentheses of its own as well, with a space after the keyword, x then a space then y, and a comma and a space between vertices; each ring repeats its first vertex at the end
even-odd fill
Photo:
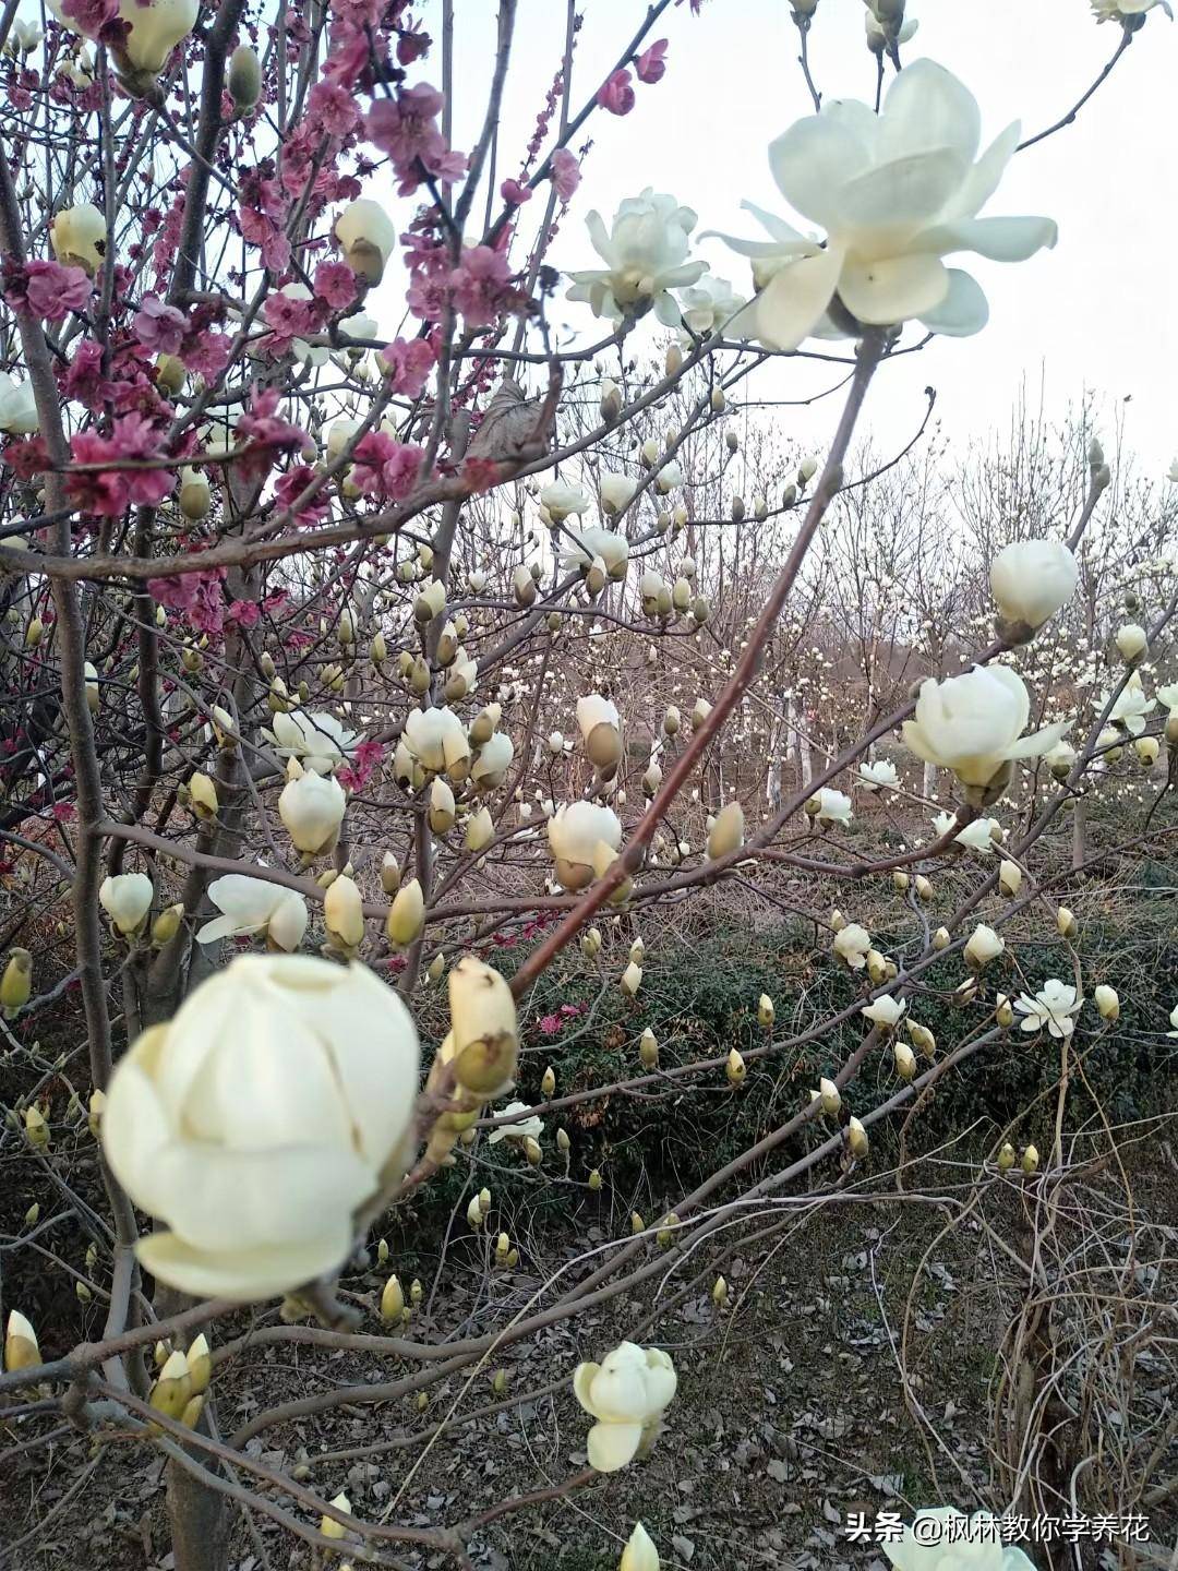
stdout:
POLYGON ((614 322, 653 306, 664 327, 677 327, 680 311, 669 291, 694 284, 707 267, 686 259, 696 214, 647 185, 641 196, 625 198, 609 233, 598 212, 586 217, 586 228, 605 267, 569 273, 569 298, 586 300, 594 316, 614 322))

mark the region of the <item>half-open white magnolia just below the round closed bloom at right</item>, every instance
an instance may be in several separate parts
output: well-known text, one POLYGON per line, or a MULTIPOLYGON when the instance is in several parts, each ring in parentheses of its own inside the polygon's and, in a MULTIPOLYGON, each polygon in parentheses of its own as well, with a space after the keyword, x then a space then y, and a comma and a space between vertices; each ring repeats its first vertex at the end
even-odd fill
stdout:
POLYGON ((1015 759, 1037 759, 1071 729, 1055 721, 1023 735, 1030 696, 1008 666, 974 666, 960 677, 920 683, 916 716, 903 723, 905 745, 925 764, 952 770, 974 807, 996 801, 1015 759))

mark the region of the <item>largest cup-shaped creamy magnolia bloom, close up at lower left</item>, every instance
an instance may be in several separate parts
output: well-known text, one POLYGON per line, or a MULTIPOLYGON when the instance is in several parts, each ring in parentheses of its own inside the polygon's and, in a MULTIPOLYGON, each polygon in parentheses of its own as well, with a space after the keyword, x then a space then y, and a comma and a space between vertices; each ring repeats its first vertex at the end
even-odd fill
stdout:
POLYGON ((418 1034, 361 965, 243 955, 115 1068, 102 1148, 166 1222, 135 1246, 152 1276, 237 1302, 335 1271, 353 1216, 401 1174, 418 1034))

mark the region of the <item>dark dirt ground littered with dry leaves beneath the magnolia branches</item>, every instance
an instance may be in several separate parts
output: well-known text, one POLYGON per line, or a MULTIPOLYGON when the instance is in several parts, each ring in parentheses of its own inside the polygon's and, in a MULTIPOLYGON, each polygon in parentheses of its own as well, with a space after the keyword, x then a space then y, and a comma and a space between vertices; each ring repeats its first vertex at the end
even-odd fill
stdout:
MULTIPOLYGON (((1178 1222, 1173 1172, 1148 1183, 1139 1199, 1159 1225, 1172 1230, 1178 1222), (1158 1216, 1167 1210, 1173 1214, 1158 1216)), ((869 1571, 884 1563, 883 1552, 876 1543, 848 1540, 850 1513, 872 1521, 880 1510, 909 1516, 928 1503, 972 1510, 999 1499, 988 1392, 1001 1367, 1010 1299, 1008 1279, 997 1284, 982 1229, 966 1222, 944 1232, 938 1210, 905 1202, 848 1202, 820 1213, 807 1213, 803 1203, 795 1211, 796 1222, 771 1244, 726 1263, 730 1296, 723 1315, 712 1302, 708 1277, 644 1335, 672 1354, 680 1376, 652 1456, 481 1533, 470 1546, 479 1571, 614 1571, 638 1519, 655 1538, 663 1566, 675 1571, 869 1571)), ((781 1210, 773 1213, 773 1219, 781 1216, 781 1210)), ((591 1227, 570 1235, 565 1247, 572 1252, 594 1241, 591 1227)), ((554 1263, 550 1246, 547 1265, 554 1263)), ((699 1265, 674 1260, 663 1298, 699 1265)), ((540 1285, 536 1263, 526 1266, 482 1280, 455 1271, 438 1295, 437 1329, 468 1321, 482 1295, 490 1295, 496 1310, 523 1307, 540 1285)), ((349 1287, 372 1301, 382 1277, 372 1271, 349 1287)), ((1164 1290, 1170 1304, 1172 1287, 1164 1290)), ((507 1395, 567 1376, 583 1357, 600 1357, 652 1307, 649 1299, 614 1301, 608 1313, 512 1346, 496 1365, 506 1370, 507 1395)), ((267 1318, 275 1321, 273 1313, 267 1318)), ((316 1349, 258 1346, 236 1359, 215 1379, 220 1431, 231 1433, 259 1404, 305 1395, 327 1381, 396 1376, 388 1360, 308 1359, 308 1353, 316 1349)), ((322 1497, 346 1491, 358 1514, 379 1519, 388 1513, 423 1527, 558 1485, 583 1469, 589 1420, 567 1387, 457 1425, 429 1450, 413 1444, 360 1455, 493 1403, 493 1373, 488 1367, 432 1392, 421 1414, 413 1401, 336 1409, 267 1431, 248 1452, 269 1466, 297 1467, 322 1497)), ((1139 1378, 1143 1390, 1150 1371, 1139 1378)), ((1169 1403, 1172 1392, 1154 1397, 1169 1403)), ((5 1459, 5 1448, 19 1445, 31 1423, 44 1420, 0 1419, 0 1543, 11 1551, 35 1522, 42 1527, 13 1558, 0 1547, 0 1563, 19 1571, 171 1571, 159 1453, 141 1441, 119 1439, 118 1431, 101 1437, 66 1431, 49 1450, 9 1450, 5 1459)), ((1172 1445, 1158 1472, 1173 1477, 1176 1470, 1172 1445)), ((1147 1562, 1169 1560, 1176 1527, 1172 1508, 1156 1513, 1156 1549, 1145 1554, 1147 1562)), ((1033 1549, 1032 1557, 1046 1565, 1033 1549)), ((314 1551, 294 1544, 264 1516, 247 1522, 239 1514, 232 1571, 309 1571, 316 1563, 314 1551)), ((446 1562, 410 1557, 407 1563, 446 1562)), ((1117 1558, 1098 1560, 1085 1551, 1084 1563, 1117 1565, 1117 1558)))

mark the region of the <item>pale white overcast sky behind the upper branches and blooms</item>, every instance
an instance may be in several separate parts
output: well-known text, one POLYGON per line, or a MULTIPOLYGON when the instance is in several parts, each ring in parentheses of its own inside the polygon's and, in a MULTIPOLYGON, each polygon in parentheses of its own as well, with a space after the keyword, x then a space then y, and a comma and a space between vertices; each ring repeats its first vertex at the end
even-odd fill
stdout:
MULTIPOLYGON (((575 108, 617 58, 646 5, 583 0, 581 9, 575 108)), ((435 38, 437 11, 437 5, 426 6, 435 38)), ((470 146, 482 115, 495 14, 495 0, 455 5, 454 140, 462 148, 470 146)), ((1115 24, 1093 22, 1087 0, 911 0, 908 14, 920 25, 905 60, 928 55, 961 77, 982 107, 983 141, 1015 118, 1024 135, 1059 119, 1120 36, 1115 24)), ((562 35, 559 0, 520 0, 499 178, 517 173, 504 159, 526 145, 559 64, 562 35)), ((598 207, 608 220, 622 196, 644 185, 694 207, 701 229, 757 236, 741 198, 787 212, 765 149, 810 113, 788 0, 704 0, 697 17, 683 3, 663 16, 653 36, 669 39, 668 72, 655 86, 638 85, 628 116, 597 113, 589 123, 594 148, 551 253, 558 265, 597 265, 584 214, 598 207)), ((820 0, 810 63, 825 96, 873 94, 862 0, 820 0)), ((427 66, 435 80, 437 52, 427 66)), ((880 443, 906 440, 924 412, 927 383, 938 390, 938 416, 955 445, 983 437, 994 424, 1007 424, 1026 377, 1035 397, 1044 380, 1051 415, 1062 415, 1085 388, 1096 391, 1106 401, 1109 432, 1123 415, 1126 443, 1147 471, 1162 471, 1178 454, 1176 71, 1178 27, 1154 9, 1076 124, 1015 157, 985 211, 1048 214, 1059 223, 1059 245, 1016 265, 963 258, 990 297, 990 325, 972 339, 935 339, 887 369, 886 386, 878 382, 869 404, 867 426, 880 443)), ((701 242, 697 255, 713 272, 748 287, 744 261, 721 242, 701 242)), ((561 306, 554 316, 581 322, 586 333, 600 327, 587 306, 561 306)), ((773 377, 762 383, 762 396, 796 397, 825 385, 829 371, 792 363, 773 377)), ((782 412, 790 432, 815 446, 829 437, 832 418, 829 402, 782 412)))

